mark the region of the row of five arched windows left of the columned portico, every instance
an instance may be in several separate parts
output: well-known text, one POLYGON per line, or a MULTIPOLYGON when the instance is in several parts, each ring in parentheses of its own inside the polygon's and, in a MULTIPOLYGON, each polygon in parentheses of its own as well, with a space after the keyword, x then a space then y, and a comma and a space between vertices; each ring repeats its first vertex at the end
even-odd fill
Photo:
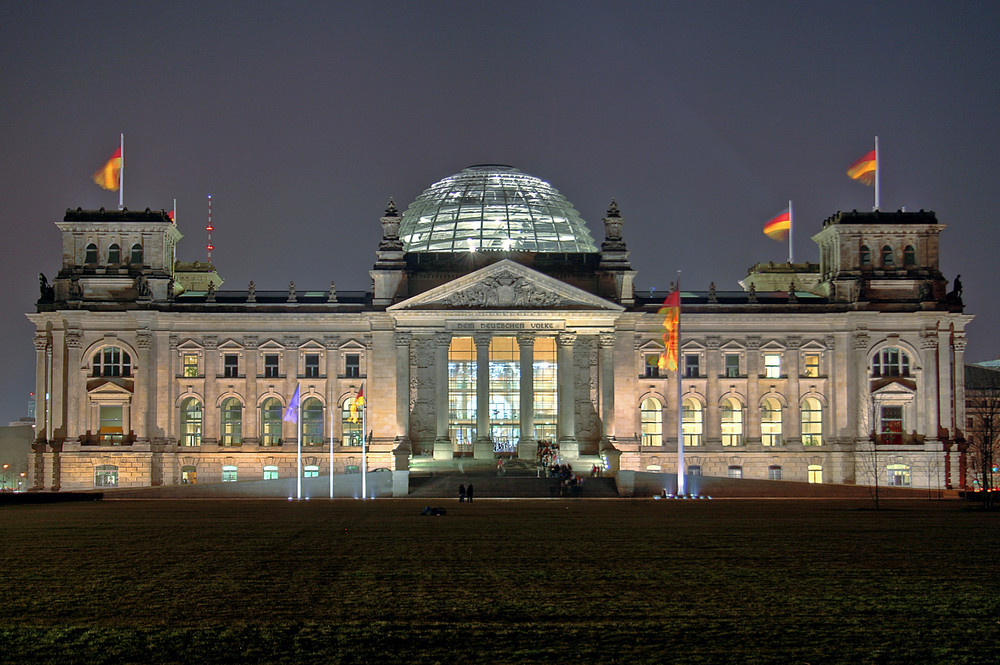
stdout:
MULTIPOLYGON (((361 445, 361 420, 356 409, 351 410, 353 398, 344 400, 340 407, 340 441, 343 446, 361 445)), ((302 445, 323 445, 324 437, 323 403, 315 397, 302 400, 302 445)), ((261 402, 257 412, 257 437, 261 446, 280 446, 284 443, 285 407, 277 397, 269 397, 261 402)), ((244 405, 236 397, 227 397, 219 407, 219 445, 239 446, 243 444, 244 405)), ((331 423, 331 427, 333 424, 331 423)), ((181 402, 180 445, 200 446, 205 428, 205 411, 201 401, 188 397, 181 402)), ((330 433, 333 437, 335 434, 330 433)), ((297 436, 297 435, 296 435, 297 436)), ((291 441, 295 441, 293 437, 291 441)))

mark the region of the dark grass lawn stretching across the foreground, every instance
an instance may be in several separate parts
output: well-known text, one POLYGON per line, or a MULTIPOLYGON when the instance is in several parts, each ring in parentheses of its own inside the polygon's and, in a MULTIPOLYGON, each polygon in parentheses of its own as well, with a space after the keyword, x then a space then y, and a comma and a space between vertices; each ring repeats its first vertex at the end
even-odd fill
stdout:
POLYGON ((955 501, 423 505, 0 508, 0 662, 1000 662, 955 501))

